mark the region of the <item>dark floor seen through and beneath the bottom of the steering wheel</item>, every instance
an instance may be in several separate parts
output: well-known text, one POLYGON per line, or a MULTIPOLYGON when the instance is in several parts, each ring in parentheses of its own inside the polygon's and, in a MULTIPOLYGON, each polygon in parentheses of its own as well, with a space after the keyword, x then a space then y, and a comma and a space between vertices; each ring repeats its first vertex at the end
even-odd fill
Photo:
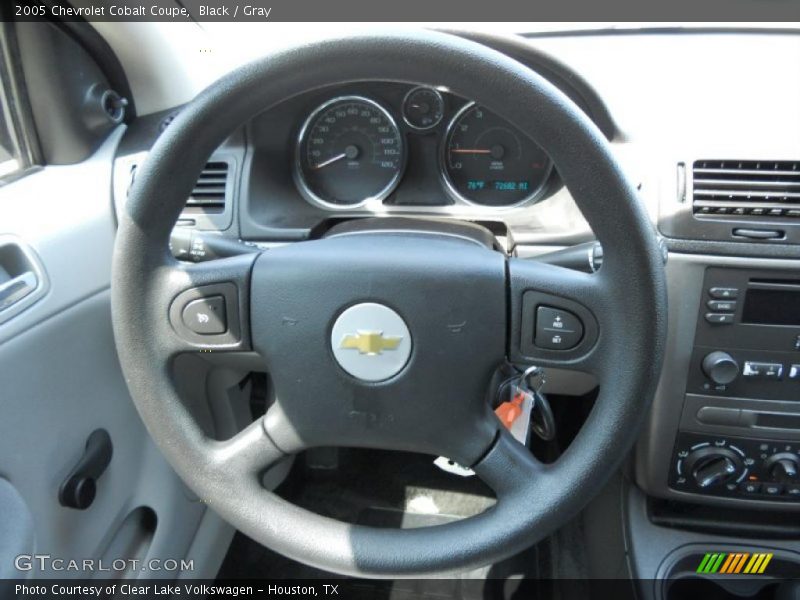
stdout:
MULTIPOLYGON (((338 468, 309 467, 298 461, 279 495, 317 514, 371 527, 424 527, 478 514, 495 500, 476 477, 459 477, 424 455, 374 450, 340 451, 338 468)), ((325 461, 322 461, 325 462, 325 461)), ((337 579, 348 598, 387 600, 514 600, 552 598, 539 565, 552 561, 547 544, 534 546, 497 565, 448 579, 358 580, 285 558, 237 533, 219 579, 337 579), (536 581, 543 577, 541 581, 536 581)))

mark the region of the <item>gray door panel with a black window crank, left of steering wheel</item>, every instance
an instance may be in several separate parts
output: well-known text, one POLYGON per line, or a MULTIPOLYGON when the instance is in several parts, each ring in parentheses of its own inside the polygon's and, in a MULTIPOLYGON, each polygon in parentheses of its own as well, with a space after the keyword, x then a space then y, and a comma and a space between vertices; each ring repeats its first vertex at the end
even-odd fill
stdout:
MULTIPOLYGON (((220 551, 196 549, 205 554, 198 555, 202 560, 195 561, 191 575, 213 576, 232 532, 191 494, 150 441, 114 347, 111 165, 123 129, 83 163, 48 167, 0 188, 0 235, 29 245, 49 281, 41 299, 0 324, 0 512, 6 515, 16 497, 15 510, 29 513, 32 524, 32 531, 12 530, 0 518, 0 537, 13 536, 0 544, 0 564, 13 564, 7 554, 29 547, 31 536, 35 552, 53 558, 180 563, 192 558, 190 547, 202 526, 214 532, 220 551), (59 486, 98 428, 110 434, 113 455, 97 482, 96 498, 86 510, 61 506, 59 486)), ((0 569, 0 575, 92 573, 0 569)), ((180 574, 139 570, 135 575, 180 574)))

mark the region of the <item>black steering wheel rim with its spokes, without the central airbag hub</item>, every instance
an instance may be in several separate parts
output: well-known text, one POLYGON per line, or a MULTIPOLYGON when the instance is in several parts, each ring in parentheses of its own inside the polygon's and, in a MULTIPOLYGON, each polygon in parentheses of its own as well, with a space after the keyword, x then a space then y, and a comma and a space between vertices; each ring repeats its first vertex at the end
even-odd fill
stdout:
MULTIPOLYGON (((655 391, 666 337, 665 289, 653 227, 594 124, 510 58, 456 36, 408 31, 326 40, 274 54, 230 73, 187 105, 139 169, 120 218, 112 311, 120 362, 145 425, 178 474, 211 507, 255 540, 319 568, 412 576, 509 556, 573 517, 599 491, 635 441, 655 391), (497 504, 470 519, 416 530, 348 525, 265 491, 256 468, 263 457, 301 447, 292 446, 291 436, 277 439, 269 415, 229 442, 209 439, 181 401, 170 372, 175 355, 198 346, 161 325, 176 296, 203 285, 238 285, 234 302, 242 315, 260 301, 255 293, 263 288, 251 279, 266 264, 261 258, 181 267, 169 254, 170 232, 208 156, 269 106, 310 89, 364 80, 444 84, 519 127, 550 154, 604 248, 603 268, 594 276, 519 260, 504 267, 512 332, 506 355, 594 372, 601 388, 589 420, 552 465, 538 463, 498 431, 485 452, 470 454, 476 473, 498 494, 497 504), (517 339, 523 295, 530 289, 584 302, 599 321, 590 347, 579 356, 532 356, 517 339)), ((217 350, 249 348, 257 341, 250 338, 246 322, 240 339, 217 350)))

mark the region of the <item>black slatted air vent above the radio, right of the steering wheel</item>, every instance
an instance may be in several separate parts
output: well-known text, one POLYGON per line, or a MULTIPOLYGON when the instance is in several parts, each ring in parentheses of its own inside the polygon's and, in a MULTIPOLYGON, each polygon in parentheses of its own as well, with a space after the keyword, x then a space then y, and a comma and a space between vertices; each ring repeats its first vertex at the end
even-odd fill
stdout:
POLYGON ((698 160, 692 176, 697 216, 800 223, 800 161, 698 160))

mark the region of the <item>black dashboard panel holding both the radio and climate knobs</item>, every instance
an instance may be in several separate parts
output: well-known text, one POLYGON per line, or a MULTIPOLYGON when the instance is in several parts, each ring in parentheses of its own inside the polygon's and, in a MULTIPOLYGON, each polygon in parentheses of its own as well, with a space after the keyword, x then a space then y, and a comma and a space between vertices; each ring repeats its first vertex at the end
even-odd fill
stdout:
POLYGON ((672 489, 800 502, 800 275, 706 269, 672 489))

